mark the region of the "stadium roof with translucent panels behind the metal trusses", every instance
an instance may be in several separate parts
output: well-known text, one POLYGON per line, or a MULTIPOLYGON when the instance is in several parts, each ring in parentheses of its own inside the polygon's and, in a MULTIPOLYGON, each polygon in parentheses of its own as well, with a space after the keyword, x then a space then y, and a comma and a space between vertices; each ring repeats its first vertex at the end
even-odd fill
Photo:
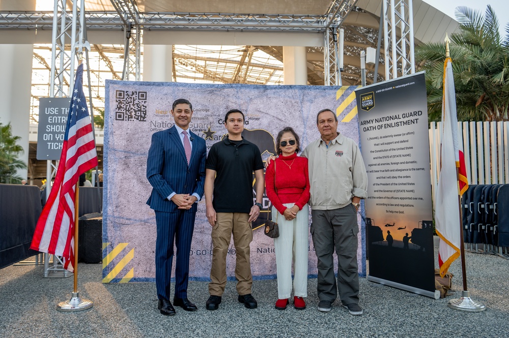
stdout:
MULTIPOLYGON (((40 97, 49 96, 50 65, 51 65, 51 29, 44 25, 33 27, 12 27, 2 23, 12 20, 13 15, 34 15, 40 17, 47 12, 52 15, 53 0, 0 0, 0 43, 34 44, 33 75, 32 75, 32 111, 31 123, 38 121, 38 105, 40 97), (34 10, 35 3, 35 12, 34 10), (32 12, 26 12, 32 11, 32 12), (14 13, 14 14, 12 14, 14 13), (4 34, 4 32, 9 34, 4 34)), ((87 12, 116 13, 112 2, 122 0, 86 0, 87 12)), ((69 8, 72 2, 67 1, 69 8)), ((187 0, 184 2, 169 2, 167 0, 139 0, 137 7, 140 13, 157 17, 163 13, 214 13, 218 14, 264 14, 273 16, 323 16, 327 13, 331 0, 187 0)), ((359 85, 360 79, 360 52, 367 47, 376 48, 378 28, 380 22, 381 0, 358 0, 353 10, 342 22, 345 29, 344 71, 342 81, 344 85, 359 85)), ((452 33, 458 23, 428 5, 422 0, 413 0, 414 36, 416 43, 429 41, 442 41, 445 33, 452 33)), ((89 26, 89 24, 87 24, 89 26)), ((281 27, 283 28, 283 27, 281 27)), ((104 30, 89 29, 91 52, 89 53, 89 68, 91 71, 91 90, 94 108, 104 109, 104 83, 106 79, 121 79, 124 62, 124 46, 121 26, 105 26, 104 30), (99 34, 97 34, 99 32, 99 34), (93 34, 94 38, 92 38, 93 34)), ((247 84, 273 84, 283 83, 282 46, 277 45, 220 45, 210 40, 210 34, 218 34, 218 30, 208 32, 204 41, 207 44, 188 45, 185 38, 178 36, 186 30, 185 26, 158 27, 158 29, 145 28, 145 44, 165 44, 160 42, 161 32, 165 29, 179 29, 179 34, 165 34, 172 36, 176 41, 167 43, 173 47, 173 81, 196 83, 247 83, 247 84), (175 38, 177 36, 177 38, 175 38)), ((272 28, 271 28, 272 29, 272 28)), ((272 32, 264 31, 263 39, 271 41, 272 32), (266 32, 266 33, 265 33, 266 32), (265 39, 267 37, 267 39, 265 39)), ((196 32, 197 29, 194 29, 196 32)), ((309 34, 305 33, 304 34, 309 34)), ((240 33, 243 34, 243 33, 240 33)), ((259 33, 262 34, 262 33, 259 33)), ((299 34, 299 32, 295 33, 299 34)), ((314 32, 314 34, 317 34, 314 32)), ((321 41, 318 34, 316 41, 321 41)), ((238 39, 240 40, 240 39, 238 39)), ((220 41, 220 39, 219 39, 220 41)), ((235 39, 231 41, 236 41, 235 39)), ((295 40, 293 40, 295 41, 295 40)), ((382 47, 383 48, 383 47, 382 47)), ((70 45, 69 45, 70 49, 70 45)), ((307 79, 312 85, 324 84, 324 57, 323 46, 307 45, 307 79)), ((143 64, 142 64, 143 67, 143 64)), ((374 67, 367 66, 367 83, 372 83, 374 67)), ((143 69, 142 69, 143 74, 143 69)), ((379 80, 384 78, 384 68, 379 68, 379 80)), ((87 84, 87 77, 84 77, 87 84)), ((85 86, 84 86, 85 88, 85 86)), ((85 93, 87 96, 88 94, 85 93)))

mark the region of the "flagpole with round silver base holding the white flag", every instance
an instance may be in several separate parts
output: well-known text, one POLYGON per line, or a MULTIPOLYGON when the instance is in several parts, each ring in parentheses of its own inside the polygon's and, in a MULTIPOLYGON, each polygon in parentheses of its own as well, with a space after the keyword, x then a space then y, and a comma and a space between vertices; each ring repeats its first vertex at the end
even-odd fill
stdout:
MULTIPOLYGON (((445 34, 445 57, 450 57, 449 50, 449 37, 447 33, 445 34)), ((445 83, 444 83, 445 85, 445 83)), ((445 93, 444 93, 445 95, 445 93)), ((445 98, 444 98, 445 99, 445 98)), ((456 114, 456 112, 454 112, 456 114)), ((475 301, 470 298, 470 292, 467 289, 467 272, 466 272, 466 264, 465 264, 465 244, 463 243, 463 224, 462 224, 462 210, 461 210, 461 193, 460 193, 460 172, 459 168, 456 168, 456 183, 458 186, 458 209, 460 214, 460 256, 461 256, 461 271, 463 276, 463 291, 461 292, 461 297, 456 299, 451 299, 448 301, 447 306, 454 310, 460 310, 465 312, 482 312, 486 310, 486 305, 480 301, 475 301)))

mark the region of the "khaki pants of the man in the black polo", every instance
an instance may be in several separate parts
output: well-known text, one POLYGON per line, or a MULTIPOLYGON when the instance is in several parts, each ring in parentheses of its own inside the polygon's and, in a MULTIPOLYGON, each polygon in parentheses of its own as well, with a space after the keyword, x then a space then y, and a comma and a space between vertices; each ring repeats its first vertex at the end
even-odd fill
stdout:
POLYGON ((249 214, 244 212, 218 212, 212 227, 212 267, 210 269, 209 293, 222 296, 226 286, 226 256, 233 233, 236 251, 235 278, 239 295, 251 293, 253 283, 249 244, 253 239, 249 214))

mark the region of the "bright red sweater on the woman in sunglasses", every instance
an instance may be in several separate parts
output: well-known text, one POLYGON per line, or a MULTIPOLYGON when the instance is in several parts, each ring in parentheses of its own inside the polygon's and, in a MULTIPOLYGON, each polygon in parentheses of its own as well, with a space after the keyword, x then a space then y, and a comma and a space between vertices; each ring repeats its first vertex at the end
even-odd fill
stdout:
POLYGON ((281 156, 270 163, 265 171, 267 197, 279 213, 284 213, 284 203, 295 203, 300 210, 309 201, 309 174, 307 159, 294 153, 281 156), (274 164, 276 179, 274 189, 274 164))

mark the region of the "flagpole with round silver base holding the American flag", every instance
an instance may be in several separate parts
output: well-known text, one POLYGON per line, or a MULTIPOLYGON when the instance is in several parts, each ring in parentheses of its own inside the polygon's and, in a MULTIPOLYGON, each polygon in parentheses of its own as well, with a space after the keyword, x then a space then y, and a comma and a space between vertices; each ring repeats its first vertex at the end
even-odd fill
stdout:
MULTIPOLYGON (((82 62, 83 51, 78 53, 78 67, 82 62)), ((60 302, 56 310, 61 312, 78 312, 91 309, 94 303, 91 300, 80 298, 78 292, 78 211, 79 211, 79 180, 76 182, 74 192, 74 289, 71 299, 60 302)))

